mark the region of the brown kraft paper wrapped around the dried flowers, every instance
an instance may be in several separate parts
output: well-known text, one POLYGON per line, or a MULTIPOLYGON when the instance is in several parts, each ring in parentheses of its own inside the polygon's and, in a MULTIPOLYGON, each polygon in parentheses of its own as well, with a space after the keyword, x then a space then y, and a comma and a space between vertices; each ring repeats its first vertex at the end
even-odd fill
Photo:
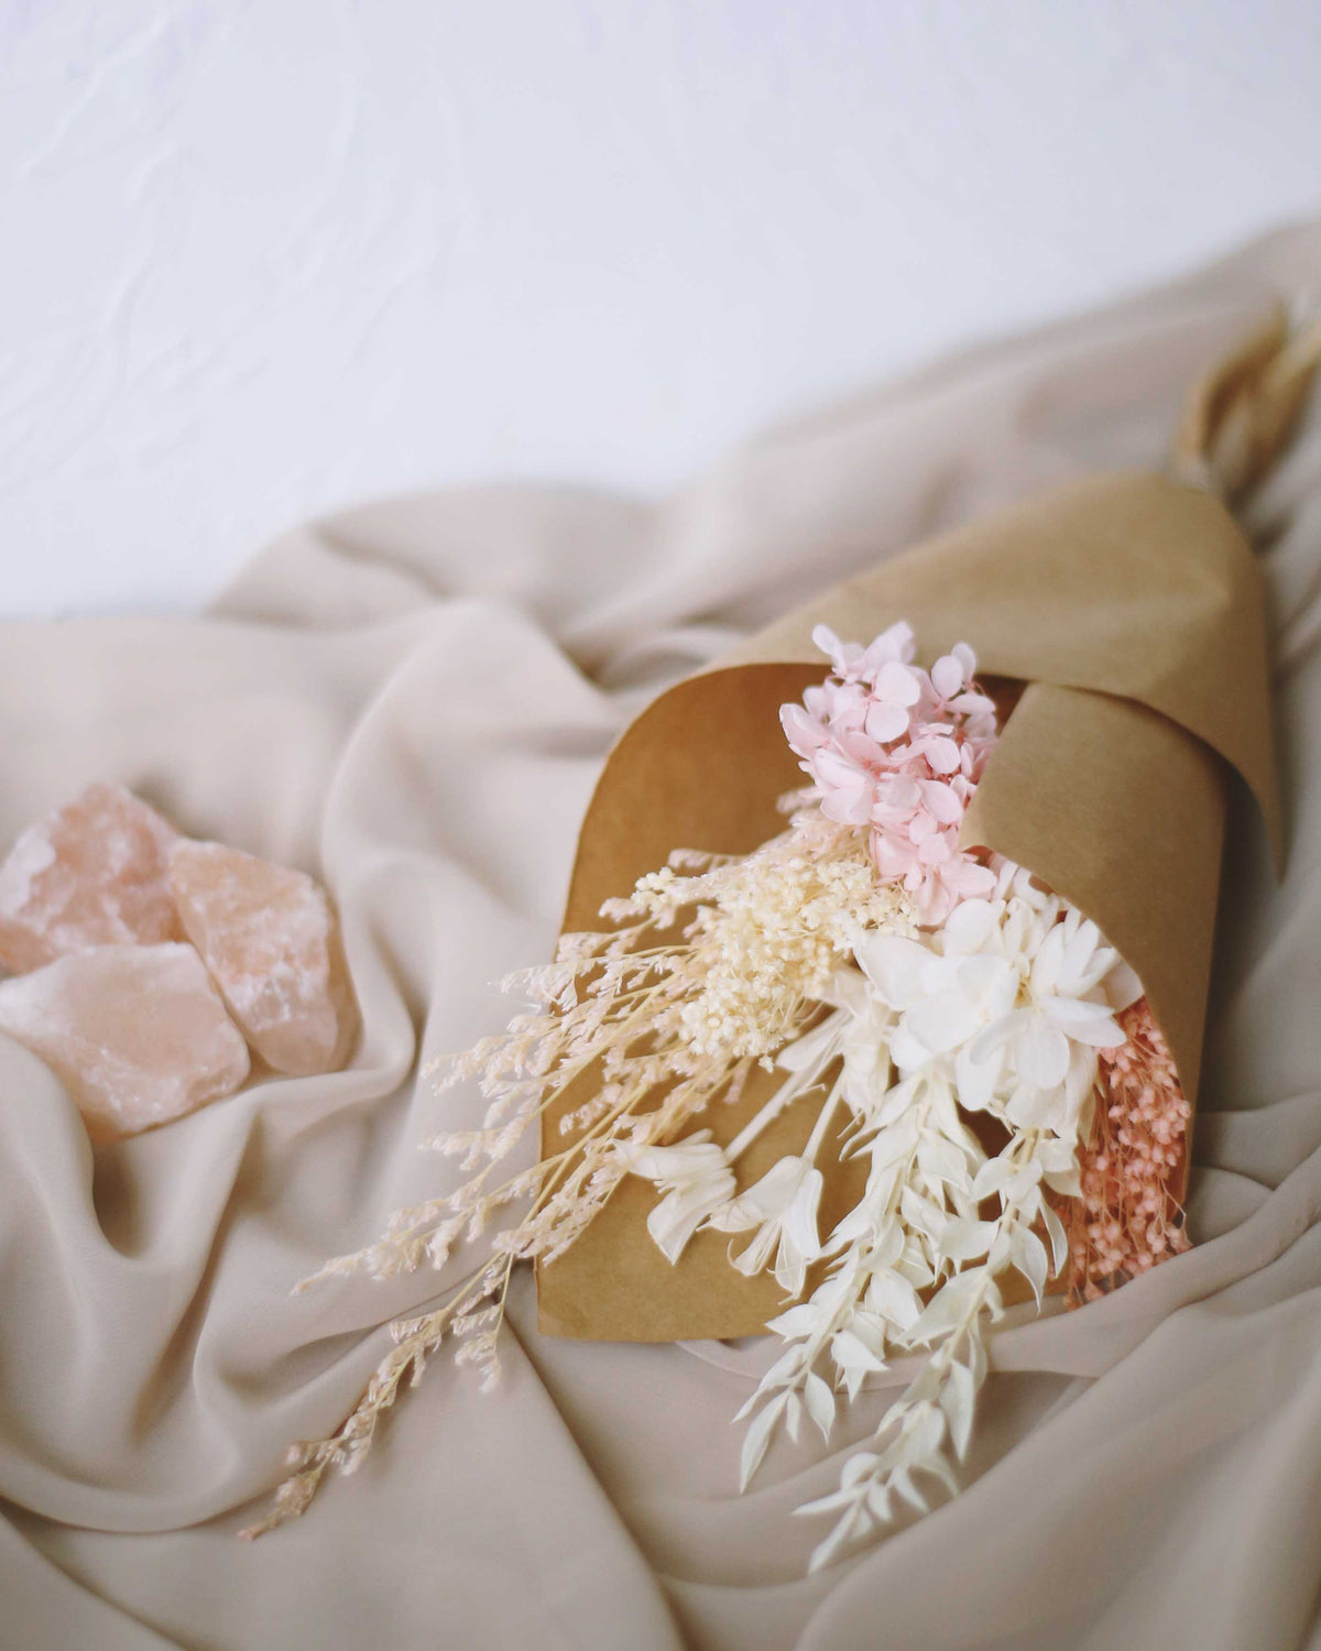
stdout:
MULTIPOLYGON (((1252 550, 1212 494, 1154 474, 1088 479, 920 545, 664 693, 601 774, 565 928, 601 928, 601 903, 674 849, 745 854, 781 830, 776 797, 803 774, 778 710, 827 672, 812 627, 867 642, 897 619, 911 622, 928 665, 969 642, 979 675, 1012 705, 963 844, 1009 855, 1096 920, 1141 976, 1196 1101, 1230 768, 1262 806, 1276 857, 1281 824, 1252 550)), ((703 1124, 732 1139, 781 1078, 760 1073, 703 1124)), ((581 1098, 573 1090, 563 1108, 581 1098)), ((804 1096, 768 1128, 740 1185, 799 1151, 819 1106, 804 1096)), ((865 1167, 826 1154, 822 1169, 829 1232, 865 1167)), ((629 1177, 542 1268, 543 1331, 733 1337, 781 1311, 773 1278, 728 1265, 725 1233, 698 1233, 670 1266, 646 1230, 654 1199, 629 1177)))

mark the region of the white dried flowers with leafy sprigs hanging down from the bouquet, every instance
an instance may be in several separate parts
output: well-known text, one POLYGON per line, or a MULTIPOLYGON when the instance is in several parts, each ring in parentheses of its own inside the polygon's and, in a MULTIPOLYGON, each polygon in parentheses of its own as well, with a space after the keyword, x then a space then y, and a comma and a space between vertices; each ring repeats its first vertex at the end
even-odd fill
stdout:
MULTIPOLYGON (((887 1412, 875 1448, 849 1459, 839 1493, 809 1504, 839 1514, 814 1565, 869 1535, 897 1501, 925 1507, 918 1474, 953 1486, 948 1451, 966 1448, 986 1372, 984 1326, 1001 1313, 996 1280, 1017 1268, 1040 1301, 1067 1261, 1044 1192, 1077 1194, 1096 1052, 1123 1042, 1115 1010, 1136 981, 1067 901, 1009 862, 994 870, 996 896, 966 901, 940 930, 862 938, 862 974, 852 984, 840 976, 836 987, 840 997, 852 992, 852 1007, 839 1010, 849 1052, 834 1098, 852 1114, 850 1149, 869 1154, 870 1172, 824 1245, 799 1228, 804 1270, 814 1258, 829 1258, 829 1270, 806 1303, 769 1326, 788 1347, 740 1412, 753 1415, 743 1483, 776 1426, 796 1436, 806 1412, 829 1436, 837 1393, 854 1398, 893 1351, 936 1352, 887 1412), (968 1128, 974 1111, 1007 1136, 996 1157, 968 1128), (989 1218, 987 1202, 997 1205, 989 1218)), ((793 1062, 794 1050, 781 1060, 793 1062)), ((781 1162, 786 1177, 798 1174, 796 1159, 781 1162)), ((732 1223, 715 1210, 708 1225, 732 1223)))

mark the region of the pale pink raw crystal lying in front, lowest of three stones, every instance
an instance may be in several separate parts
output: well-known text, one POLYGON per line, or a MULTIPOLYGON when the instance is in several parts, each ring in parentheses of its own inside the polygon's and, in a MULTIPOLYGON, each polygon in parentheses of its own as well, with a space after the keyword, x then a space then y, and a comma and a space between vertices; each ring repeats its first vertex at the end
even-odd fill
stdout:
POLYGON ((233 1095, 248 1045, 192 946, 97 946, 0 982, 0 1030, 63 1080, 92 1141, 233 1095))

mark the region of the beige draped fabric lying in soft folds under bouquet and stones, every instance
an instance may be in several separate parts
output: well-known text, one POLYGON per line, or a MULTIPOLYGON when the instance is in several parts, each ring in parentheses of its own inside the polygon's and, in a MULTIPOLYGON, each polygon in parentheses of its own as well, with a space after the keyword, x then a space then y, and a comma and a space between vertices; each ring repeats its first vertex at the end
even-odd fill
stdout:
MULTIPOLYGON (((96 776, 332 887, 365 1034, 88 1146, 0 1040, 0 1646, 1063 1651, 1321 1646, 1321 418, 1252 499, 1290 859, 1235 799, 1196 1138, 1197 1248, 992 1344, 968 1489, 806 1578, 822 1458, 735 1494, 765 1344, 540 1337, 504 1384, 439 1359, 363 1471, 254 1545, 294 1438, 332 1428, 434 1276, 291 1298, 444 1185, 474 1116, 419 1058, 495 1029, 553 941, 626 720, 812 591, 1091 469, 1158 464, 1189 380, 1321 291, 1321 225, 969 352, 735 452, 660 504, 481 489, 353 510, 200 619, 0 637, 0 839, 96 776)), ((1153 811, 1161 797, 1151 797, 1153 811)), ((1179 845, 1171 844, 1171 854, 1179 845)), ((900 1377, 903 1372, 900 1372, 900 1377)))

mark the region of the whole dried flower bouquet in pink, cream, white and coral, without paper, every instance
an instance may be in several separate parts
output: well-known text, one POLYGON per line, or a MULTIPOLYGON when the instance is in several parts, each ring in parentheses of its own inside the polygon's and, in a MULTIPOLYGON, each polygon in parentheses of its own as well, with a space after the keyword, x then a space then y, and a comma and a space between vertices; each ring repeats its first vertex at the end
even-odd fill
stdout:
POLYGON ((804 1509, 831 1516, 814 1567, 900 1502, 925 1509, 923 1479, 958 1489, 1007 1276, 1039 1303, 1052 1280, 1080 1301, 1186 1248, 1189 1103, 1141 982, 1029 870, 959 845, 999 738, 971 647, 926 670, 907 624, 869 647, 824 626, 814 641, 831 674, 781 712, 811 781, 784 799, 788 827, 743 857, 672 855, 606 905, 613 928, 505 981, 530 1007, 441 1075, 487 1101, 481 1129, 429 1142, 469 1179, 315 1276, 439 1268, 492 1230, 489 1260, 393 1327, 355 1412, 294 1450, 248 1534, 352 1469, 443 1341, 492 1384, 514 1265, 552 1265, 627 1177, 652 1185, 647 1230, 670 1263, 698 1232, 727 1233, 730 1266, 783 1293, 768 1324, 783 1351, 740 1412, 745 1486, 778 1428, 798 1436, 806 1415, 829 1438, 869 1375, 930 1352, 839 1489, 804 1509), (779 1081, 722 1146, 708 1121, 755 1067, 779 1081), (570 1091, 586 1100, 565 1109, 570 1091), (748 1149, 804 1096, 806 1144, 750 1179, 748 1149), (527 1166, 548 1114, 558 1139, 527 1166), (822 1230, 827 1141, 865 1185, 822 1230))

